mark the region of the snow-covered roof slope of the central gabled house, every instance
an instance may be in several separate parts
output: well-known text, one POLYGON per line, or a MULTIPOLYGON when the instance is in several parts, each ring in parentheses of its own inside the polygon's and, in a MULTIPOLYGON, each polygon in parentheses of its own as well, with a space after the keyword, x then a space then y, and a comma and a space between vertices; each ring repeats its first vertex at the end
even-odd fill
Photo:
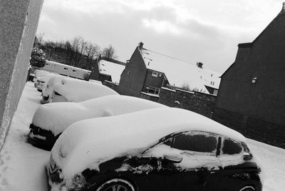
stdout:
POLYGON ((199 68, 191 63, 180 61, 177 58, 139 48, 145 66, 151 70, 165 73, 170 85, 182 87, 185 84, 190 86, 190 90, 208 93, 207 85, 212 88, 219 88, 220 74, 205 68, 199 68))

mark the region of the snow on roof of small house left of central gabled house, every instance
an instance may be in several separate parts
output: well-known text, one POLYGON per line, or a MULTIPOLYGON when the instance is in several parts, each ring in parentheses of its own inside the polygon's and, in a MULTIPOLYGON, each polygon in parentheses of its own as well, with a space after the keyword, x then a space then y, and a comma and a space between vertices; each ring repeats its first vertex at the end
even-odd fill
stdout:
POLYGON ((114 83, 120 82, 120 75, 122 74, 125 66, 120 65, 118 63, 113 63, 109 61, 101 60, 99 63, 99 71, 100 73, 104 73, 112 76, 112 81, 114 83))

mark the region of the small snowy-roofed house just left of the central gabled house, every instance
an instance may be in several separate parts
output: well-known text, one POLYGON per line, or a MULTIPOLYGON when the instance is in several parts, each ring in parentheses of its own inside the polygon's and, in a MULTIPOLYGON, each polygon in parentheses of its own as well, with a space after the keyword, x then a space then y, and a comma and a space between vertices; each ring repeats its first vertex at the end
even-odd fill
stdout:
POLYGON ((98 66, 100 72, 100 81, 110 81, 115 84, 119 84, 120 75, 125 69, 125 66, 123 64, 100 60, 98 66))

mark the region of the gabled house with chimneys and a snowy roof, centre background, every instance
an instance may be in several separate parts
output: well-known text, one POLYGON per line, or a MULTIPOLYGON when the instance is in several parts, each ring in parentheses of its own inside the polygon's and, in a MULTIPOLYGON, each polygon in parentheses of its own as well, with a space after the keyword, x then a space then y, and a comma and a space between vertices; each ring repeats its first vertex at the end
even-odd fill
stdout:
POLYGON ((120 93, 140 97, 160 95, 162 87, 217 94, 219 73, 143 48, 135 48, 120 78, 120 93))

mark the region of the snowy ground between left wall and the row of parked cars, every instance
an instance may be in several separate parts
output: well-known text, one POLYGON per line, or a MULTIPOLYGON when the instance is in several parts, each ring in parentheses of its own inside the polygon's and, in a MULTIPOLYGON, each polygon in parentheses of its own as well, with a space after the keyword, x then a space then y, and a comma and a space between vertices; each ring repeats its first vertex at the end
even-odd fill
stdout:
POLYGON ((45 191, 44 165, 49 152, 26 143, 28 126, 40 105, 41 93, 27 83, 0 153, 0 190, 45 191))

